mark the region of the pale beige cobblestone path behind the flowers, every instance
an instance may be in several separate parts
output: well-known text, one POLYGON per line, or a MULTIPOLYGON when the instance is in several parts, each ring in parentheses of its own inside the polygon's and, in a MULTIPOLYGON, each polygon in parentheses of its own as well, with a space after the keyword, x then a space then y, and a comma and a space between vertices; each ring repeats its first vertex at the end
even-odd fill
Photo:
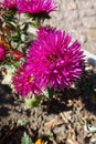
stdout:
POLYGON ((96 55, 96 0, 56 0, 50 24, 72 33, 83 49, 96 55))

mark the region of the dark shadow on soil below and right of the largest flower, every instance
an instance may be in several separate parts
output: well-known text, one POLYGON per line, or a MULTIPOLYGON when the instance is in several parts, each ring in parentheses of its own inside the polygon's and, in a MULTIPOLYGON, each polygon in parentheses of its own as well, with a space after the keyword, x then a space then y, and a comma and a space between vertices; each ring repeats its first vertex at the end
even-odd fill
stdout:
POLYGON ((56 93, 56 97, 53 97, 47 104, 47 112, 58 114, 73 110, 73 106, 67 106, 67 101, 78 100, 78 97, 82 99, 85 109, 96 115, 96 73, 93 71, 85 71, 81 80, 76 82, 75 89, 56 93))

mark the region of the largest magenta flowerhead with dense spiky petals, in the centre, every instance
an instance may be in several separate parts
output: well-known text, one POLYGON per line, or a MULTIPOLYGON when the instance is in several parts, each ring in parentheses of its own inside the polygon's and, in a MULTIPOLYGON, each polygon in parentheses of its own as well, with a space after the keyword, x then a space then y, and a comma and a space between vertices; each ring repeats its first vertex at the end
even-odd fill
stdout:
POLYGON ((50 27, 41 28, 39 39, 29 48, 26 62, 43 88, 61 89, 79 78, 84 62, 81 44, 72 37, 50 27))

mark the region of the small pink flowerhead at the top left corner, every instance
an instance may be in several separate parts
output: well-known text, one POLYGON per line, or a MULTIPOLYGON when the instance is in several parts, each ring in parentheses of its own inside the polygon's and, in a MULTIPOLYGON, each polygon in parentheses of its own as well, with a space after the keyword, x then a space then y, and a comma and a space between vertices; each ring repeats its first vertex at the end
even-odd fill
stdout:
POLYGON ((9 9, 17 8, 17 0, 4 0, 2 6, 9 9))

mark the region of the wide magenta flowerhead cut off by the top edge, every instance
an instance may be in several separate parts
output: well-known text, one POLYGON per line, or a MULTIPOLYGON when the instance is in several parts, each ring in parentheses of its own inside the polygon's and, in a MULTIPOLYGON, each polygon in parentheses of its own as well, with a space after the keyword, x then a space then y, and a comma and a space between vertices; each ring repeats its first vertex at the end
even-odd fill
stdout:
POLYGON ((20 13, 50 13, 56 9, 53 0, 18 0, 20 13))

